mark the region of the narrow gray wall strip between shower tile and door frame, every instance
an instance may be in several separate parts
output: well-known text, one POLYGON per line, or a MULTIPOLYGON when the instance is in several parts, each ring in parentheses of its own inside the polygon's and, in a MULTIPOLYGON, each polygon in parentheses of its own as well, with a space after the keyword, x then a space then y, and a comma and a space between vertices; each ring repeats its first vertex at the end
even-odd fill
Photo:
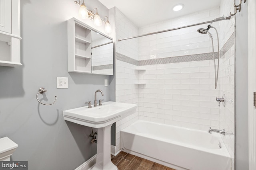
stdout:
POLYGON ((236 14, 235 169, 248 170, 248 3, 236 14))

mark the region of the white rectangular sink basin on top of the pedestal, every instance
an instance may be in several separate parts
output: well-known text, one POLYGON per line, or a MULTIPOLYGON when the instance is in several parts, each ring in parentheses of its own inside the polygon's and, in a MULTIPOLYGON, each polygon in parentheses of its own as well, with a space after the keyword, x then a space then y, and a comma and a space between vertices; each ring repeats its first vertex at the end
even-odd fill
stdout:
POLYGON ((136 104, 104 102, 102 106, 88 106, 64 110, 64 120, 89 127, 106 127, 135 112, 136 104))

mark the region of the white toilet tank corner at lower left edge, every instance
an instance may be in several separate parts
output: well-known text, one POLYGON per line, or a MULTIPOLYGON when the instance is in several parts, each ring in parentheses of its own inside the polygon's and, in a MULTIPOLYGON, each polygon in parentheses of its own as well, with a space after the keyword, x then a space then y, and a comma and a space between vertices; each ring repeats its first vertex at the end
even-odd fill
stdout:
POLYGON ((0 138, 0 161, 10 161, 18 145, 8 137, 0 138))

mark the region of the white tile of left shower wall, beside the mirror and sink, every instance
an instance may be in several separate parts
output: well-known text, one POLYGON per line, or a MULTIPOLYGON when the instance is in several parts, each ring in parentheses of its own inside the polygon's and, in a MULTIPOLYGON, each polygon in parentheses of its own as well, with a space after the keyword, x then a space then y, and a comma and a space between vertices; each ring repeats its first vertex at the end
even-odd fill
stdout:
MULTIPOLYGON (((116 40, 138 35, 138 28, 115 8, 116 40)), ((138 39, 116 41, 116 52, 138 61, 138 39)), ((122 57, 122 56, 121 56, 122 57)), ((138 63, 138 62, 137 62, 138 63)), ((138 105, 138 66, 116 60, 116 102, 138 105)), ((137 111, 116 122, 116 150, 121 150, 120 131, 138 120, 137 111)))

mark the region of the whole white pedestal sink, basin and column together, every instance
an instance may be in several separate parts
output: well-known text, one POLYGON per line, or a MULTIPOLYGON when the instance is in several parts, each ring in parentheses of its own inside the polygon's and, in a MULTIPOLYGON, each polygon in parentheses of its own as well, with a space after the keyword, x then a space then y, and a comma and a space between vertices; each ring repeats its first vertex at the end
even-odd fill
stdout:
POLYGON ((135 112, 136 104, 104 102, 102 106, 64 110, 64 120, 98 128, 96 164, 91 170, 118 170, 110 158, 111 125, 135 112))

